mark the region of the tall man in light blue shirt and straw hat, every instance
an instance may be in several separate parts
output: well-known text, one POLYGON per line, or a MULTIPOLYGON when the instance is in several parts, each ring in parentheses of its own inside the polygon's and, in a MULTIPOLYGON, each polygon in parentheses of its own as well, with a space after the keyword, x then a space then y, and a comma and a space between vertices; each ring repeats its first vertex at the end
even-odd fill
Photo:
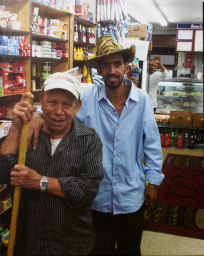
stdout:
POLYGON ((82 91, 83 104, 76 117, 95 128, 103 142, 104 178, 92 206, 97 234, 92 255, 141 254, 144 210, 156 201, 156 187, 164 177, 150 97, 123 79, 135 54, 134 45, 123 49, 110 34, 99 37, 97 57, 88 64, 102 75, 105 85, 82 91))

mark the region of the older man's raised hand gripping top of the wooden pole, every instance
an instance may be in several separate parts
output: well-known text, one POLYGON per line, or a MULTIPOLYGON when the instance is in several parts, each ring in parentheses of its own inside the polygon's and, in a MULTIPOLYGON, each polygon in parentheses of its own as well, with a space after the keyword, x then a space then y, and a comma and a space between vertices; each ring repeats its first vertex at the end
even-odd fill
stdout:
POLYGON ((28 101, 26 101, 26 97, 30 99, 34 99, 34 95, 32 93, 23 93, 21 95, 21 101, 15 104, 13 108, 13 126, 17 129, 21 129, 24 124, 28 124, 29 121, 32 120, 32 115, 37 110, 35 105, 31 105, 28 101))

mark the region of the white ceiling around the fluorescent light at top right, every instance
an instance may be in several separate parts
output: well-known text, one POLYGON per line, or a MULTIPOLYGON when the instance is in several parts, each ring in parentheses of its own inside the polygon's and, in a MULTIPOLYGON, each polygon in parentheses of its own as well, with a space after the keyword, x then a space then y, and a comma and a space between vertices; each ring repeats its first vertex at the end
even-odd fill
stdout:
MULTIPOLYGON (((152 11, 148 11, 142 1, 144 0, 125 0, 131 22, 138 22, 137 12, 146 19, 147 24, 152 24, 153 28, 160 26, 152 11)), ((178 23, 203 23, 203 0, 152 0, 152 2, 166 17, 168 26, 178 23)))

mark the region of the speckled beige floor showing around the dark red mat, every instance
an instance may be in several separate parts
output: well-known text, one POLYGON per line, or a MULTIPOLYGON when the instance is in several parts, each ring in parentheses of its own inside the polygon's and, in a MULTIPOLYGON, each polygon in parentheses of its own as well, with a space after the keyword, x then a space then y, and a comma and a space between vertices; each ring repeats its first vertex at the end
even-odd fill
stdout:
MULTIPOLYGON (((204 156, 204 148, 197 147, 194 150, 185 148, 162 148, 163 161, 168 153, 204 156)), ((204 240, 144 230, 141 250, 142 256, 204 255, 204 240)))

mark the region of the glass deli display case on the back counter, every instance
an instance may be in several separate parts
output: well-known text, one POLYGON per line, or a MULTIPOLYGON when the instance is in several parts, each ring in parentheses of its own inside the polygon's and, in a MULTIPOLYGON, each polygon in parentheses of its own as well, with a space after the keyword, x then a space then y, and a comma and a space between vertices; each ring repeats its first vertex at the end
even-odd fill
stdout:
POLYGON ((158 83, 157 113, 191 110, 203 113, 203 81, 197 79, 164 79, 158 83))

